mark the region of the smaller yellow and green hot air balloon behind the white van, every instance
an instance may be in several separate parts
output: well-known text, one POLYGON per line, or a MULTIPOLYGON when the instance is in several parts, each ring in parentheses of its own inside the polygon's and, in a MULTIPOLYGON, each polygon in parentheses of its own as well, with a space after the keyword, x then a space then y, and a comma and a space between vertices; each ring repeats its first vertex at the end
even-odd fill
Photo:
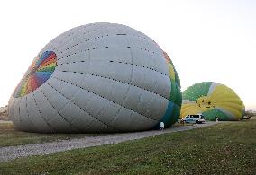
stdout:
POLYGON ((203 114, 208 120, 239 120, 244 105, 232 89, 221 83, 196 83, 182 93, 180 118, 203 114))

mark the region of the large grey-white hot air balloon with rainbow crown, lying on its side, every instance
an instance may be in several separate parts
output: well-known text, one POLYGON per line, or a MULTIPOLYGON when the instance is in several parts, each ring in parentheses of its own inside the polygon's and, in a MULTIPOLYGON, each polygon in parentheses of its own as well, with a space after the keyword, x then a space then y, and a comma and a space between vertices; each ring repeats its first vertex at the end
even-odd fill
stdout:
POLYGON ((50 41, 9 101, 18 129, 123 132, 170 126, 181 92, 168 55, 140 31, 114 23, 73 28, 50 41))

